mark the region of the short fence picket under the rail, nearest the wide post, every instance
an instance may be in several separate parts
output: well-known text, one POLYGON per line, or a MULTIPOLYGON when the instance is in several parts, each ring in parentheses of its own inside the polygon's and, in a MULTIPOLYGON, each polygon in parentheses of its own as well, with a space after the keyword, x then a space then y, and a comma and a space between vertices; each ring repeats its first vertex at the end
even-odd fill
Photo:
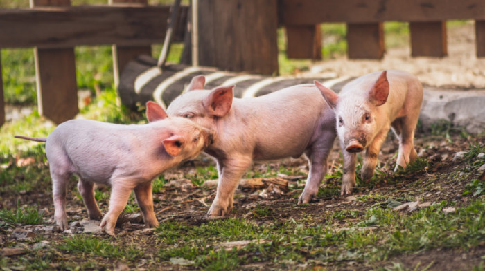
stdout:
POLYGON ((285 26, 288 58, 321 59, 321 30, 315 26, 285 26))

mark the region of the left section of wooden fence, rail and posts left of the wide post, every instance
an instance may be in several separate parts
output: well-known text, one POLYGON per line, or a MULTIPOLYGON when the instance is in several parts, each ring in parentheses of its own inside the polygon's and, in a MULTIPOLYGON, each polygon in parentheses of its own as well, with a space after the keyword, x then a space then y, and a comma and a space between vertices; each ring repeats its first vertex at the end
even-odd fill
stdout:
MULTIPOLYGON (((78 113, 74 46, 114 44, 117 81, 127 62, 151 55, 151 45, 164 41, 170 15, 169 6, 147 6, 147 0, 111 0, 105 6, 71 6, 70 0, 30 2, 28 9, 0 10, 0 48, 35 47, 39 113, 56 123, 78 113)), ((179 10, 179 20, 184 21, 186 12, 187 7, 179 10)), ((3 122, 0 84, 0 125, 3 122)))

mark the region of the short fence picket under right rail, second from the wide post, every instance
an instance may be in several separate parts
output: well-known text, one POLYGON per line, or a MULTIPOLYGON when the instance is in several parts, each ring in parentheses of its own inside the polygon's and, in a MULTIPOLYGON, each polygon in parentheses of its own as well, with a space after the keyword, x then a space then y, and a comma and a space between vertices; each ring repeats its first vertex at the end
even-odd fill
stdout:
POLYGON ((384 55, 384 24, 347 24, 350 59, 381 59, 384 55))

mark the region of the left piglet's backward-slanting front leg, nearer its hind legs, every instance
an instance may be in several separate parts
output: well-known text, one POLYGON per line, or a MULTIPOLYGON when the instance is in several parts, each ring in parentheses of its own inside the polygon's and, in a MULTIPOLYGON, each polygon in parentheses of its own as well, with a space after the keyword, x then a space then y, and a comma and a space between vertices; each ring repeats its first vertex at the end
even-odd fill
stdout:
POLYGON ((111 196, 109 198, 109 208, 107 214, 101 221, 100 227, 105 227, 105 232, 114 236, 114 227, 118 216, 120 216, 123 209, 125 209, 128 198, 134 187, 123 184, 123 181, 112 183, 111 196))

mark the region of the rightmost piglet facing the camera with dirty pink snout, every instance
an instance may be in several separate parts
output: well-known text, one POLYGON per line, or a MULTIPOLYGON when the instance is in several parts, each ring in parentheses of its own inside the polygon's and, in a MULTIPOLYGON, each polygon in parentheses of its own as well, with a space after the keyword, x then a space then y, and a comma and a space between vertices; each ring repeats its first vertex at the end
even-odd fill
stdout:
POLYGON ((399 139, 394 171, 416 160, 414 129, 423 101, 423 86, 416 76, 395 70, 369 73, 346 84, 340 95, 317 81, 315 85, 336 115, 344 156, 342 195, 350 194, 355 187, 358 152, 365 150, 362 179, 373 176, 380 147, 390 128, 399 139))

